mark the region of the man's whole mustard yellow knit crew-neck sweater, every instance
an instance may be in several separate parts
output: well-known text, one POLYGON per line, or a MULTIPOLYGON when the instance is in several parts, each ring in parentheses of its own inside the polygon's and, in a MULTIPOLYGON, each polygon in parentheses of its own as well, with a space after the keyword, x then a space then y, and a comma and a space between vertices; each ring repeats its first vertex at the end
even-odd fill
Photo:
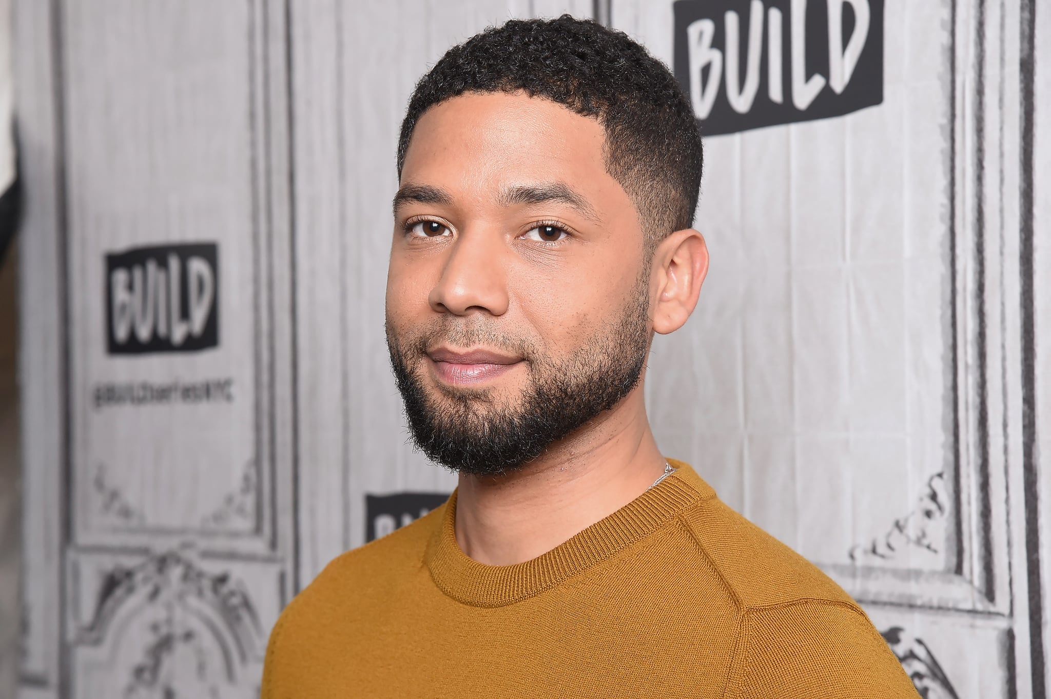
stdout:
POLYGON ((274 627, 263 699, 915 699, 842 589, 673 465, 523 564, 460 551, 455 493, 338 556, 274 627))

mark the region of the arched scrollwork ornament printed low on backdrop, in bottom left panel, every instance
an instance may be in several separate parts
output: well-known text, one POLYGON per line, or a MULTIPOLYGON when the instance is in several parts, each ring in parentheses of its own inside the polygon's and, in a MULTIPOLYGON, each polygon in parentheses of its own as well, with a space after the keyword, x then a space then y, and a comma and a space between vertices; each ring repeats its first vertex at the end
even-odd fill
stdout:
MULTIPOLYGON (((181 553, 168 551, 131 568, 116 566, 106 574, 91 621, 80 631, 78 642, 102 643, 110 623, 130 599, 164 605, 169 612, 203 608, 229 634, 235 647, 231 650, 242 662, 257 656, 265 641, 255 608, 240 581, 228 573, 209 574, 181 553)), ((172 636, 171 642, 177 640, 172 636)))

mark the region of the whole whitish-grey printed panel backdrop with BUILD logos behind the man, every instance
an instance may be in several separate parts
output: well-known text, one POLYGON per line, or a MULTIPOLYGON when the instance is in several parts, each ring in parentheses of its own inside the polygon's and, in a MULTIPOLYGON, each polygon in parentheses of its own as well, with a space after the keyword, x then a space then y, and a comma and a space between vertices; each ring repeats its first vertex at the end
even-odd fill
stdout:
POLYGON ((924 696, 1046 696, 1047 8, 14 4, 22 697, 254 696, 295 592, 452 489, 384 341, 397 130, 450 45, 562 12, 645 43, 707 136, 712 271, 647 379, 665 453, 924 696))

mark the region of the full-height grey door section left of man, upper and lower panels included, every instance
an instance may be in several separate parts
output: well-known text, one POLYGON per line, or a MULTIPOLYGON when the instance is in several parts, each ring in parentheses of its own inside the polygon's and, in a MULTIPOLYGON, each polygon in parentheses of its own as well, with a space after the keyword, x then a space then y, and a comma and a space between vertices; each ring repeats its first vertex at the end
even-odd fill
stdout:
POLYGON ((23 370, 58 391, 26 426, 23 683, 47 696, 250 696, 294 593, 285 16, 19 3, 19 73, 51 85, 24 130, 50 295, 23 370))

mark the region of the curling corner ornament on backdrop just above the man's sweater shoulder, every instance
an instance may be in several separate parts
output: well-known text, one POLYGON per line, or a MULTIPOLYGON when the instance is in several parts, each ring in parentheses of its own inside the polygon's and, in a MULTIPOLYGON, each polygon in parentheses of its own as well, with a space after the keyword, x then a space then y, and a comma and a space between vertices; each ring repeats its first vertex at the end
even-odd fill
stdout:
POLYGON ((935 555, 943 553, 948 511, 945 473, 939 472, 927 480, 927 491, 916 507, 904 517, 894 520, 886 534, 864 546, 856 544, 850 547, 850 560, 856 564, 885 564, 910 548, 935 555))

